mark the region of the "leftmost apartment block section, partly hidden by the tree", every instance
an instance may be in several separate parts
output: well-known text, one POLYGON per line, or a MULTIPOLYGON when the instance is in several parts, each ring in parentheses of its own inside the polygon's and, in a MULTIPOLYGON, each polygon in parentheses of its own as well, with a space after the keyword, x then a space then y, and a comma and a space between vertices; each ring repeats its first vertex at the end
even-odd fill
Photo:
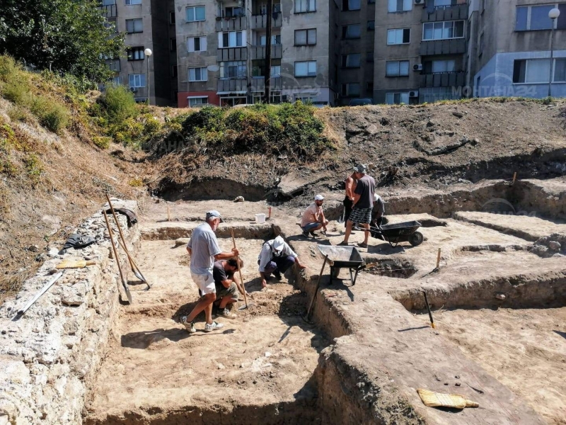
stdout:
MULTIPOLYGON (((100 0, 99 8, 117 32, 126 33, 125 55, 107 60, 116 73, 113 81, 127 85, 137 101, 149 98, 152 105, 161 106, 176 103, 171 64, 177 57, 176 52, 171 52, 168 15, 173 0, 100 0), (169 8, 163 6, 168 3, 169 8), (151 57, 144 53, 148 48, 151 57)), ((173 27, 173 38, 174 34, 173 27)))

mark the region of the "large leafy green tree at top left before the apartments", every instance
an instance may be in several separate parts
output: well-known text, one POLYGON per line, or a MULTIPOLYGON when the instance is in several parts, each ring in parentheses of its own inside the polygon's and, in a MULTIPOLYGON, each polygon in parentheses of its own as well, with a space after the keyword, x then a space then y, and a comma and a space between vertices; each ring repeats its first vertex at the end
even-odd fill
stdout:
POLYGON ((0 0, 0 53, 38 69, 106 81, 113 73, 105 58, 123 54, 124 35, 97 6, 95 0, 0 0))

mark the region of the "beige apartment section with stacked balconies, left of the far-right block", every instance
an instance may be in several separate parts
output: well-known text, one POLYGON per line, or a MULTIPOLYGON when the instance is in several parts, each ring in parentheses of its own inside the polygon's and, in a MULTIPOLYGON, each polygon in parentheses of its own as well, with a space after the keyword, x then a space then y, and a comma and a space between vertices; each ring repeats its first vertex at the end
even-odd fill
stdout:
POLYGON ((374 101, 461 98, 468 12, 468 0, 377 0, 374 101))

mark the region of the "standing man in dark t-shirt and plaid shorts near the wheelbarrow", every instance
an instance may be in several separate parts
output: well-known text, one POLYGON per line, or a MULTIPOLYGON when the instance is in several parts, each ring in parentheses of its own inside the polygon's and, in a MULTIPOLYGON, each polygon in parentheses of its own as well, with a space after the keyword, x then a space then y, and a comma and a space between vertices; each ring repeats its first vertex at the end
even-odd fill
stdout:
POLYGON ((354 166, 354 177, 357 180, 356 188, 354 189, 354 207, 352 208, 352 214, 350 214, 350 220, 346 223, 344 241, 339 245, 348 246, 348 239, 355 222, 364 225, 364 242, 357 245, 360 248, 367 248, 376 181, 373 177, 367 175, 367 166, 364 164, 354 166))

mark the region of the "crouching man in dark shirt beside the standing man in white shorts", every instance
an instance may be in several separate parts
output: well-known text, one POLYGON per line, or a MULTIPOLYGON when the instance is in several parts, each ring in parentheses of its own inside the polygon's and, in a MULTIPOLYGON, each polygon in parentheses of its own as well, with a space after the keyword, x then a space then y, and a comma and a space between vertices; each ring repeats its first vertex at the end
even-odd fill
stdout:
POLYGON ((214 263, 212 276, 214 276, 214 285, 216 286, 216 301, 214 305, 218 307, 216 315, 226 317, 226 319, 236 319, 236 314, 229 310, 229 305, 238 301, 238 292, 243 295, 241 282, 236 278, 236 271, 243 267, 243 261, 240 264, 236 259, 221 260, 214 263))

